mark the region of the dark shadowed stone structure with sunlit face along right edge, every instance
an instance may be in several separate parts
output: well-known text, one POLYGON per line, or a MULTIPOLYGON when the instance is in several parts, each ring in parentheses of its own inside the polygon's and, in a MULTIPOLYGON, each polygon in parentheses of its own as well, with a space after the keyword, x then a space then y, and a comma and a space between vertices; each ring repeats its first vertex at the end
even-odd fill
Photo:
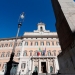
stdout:
POLYGON ((58 55, 60 75, 75 75, 75 1, 51 0, 62 52, 58 55))

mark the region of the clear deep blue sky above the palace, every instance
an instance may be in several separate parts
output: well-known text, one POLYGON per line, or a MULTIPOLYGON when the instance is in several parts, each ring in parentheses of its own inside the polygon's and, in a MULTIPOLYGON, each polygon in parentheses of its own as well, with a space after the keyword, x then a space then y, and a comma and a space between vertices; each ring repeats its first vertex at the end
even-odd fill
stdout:
POLYGON ((0 38, 15 37, 20 13, 25 12, 25 20, 19 36, 37 29, 42 21, 46 29, 55 32, 55 16, 51 0, 0 0, 0 38))

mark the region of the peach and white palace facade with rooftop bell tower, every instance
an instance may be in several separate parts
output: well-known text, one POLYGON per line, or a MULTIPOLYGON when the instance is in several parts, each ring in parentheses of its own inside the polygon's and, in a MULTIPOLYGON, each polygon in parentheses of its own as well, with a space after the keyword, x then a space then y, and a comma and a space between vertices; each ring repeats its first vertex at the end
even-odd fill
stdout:
MULTIPOLYGON (((6 62, 9 61, 15 38, 0 39, 0 72, 5 72, 6 62)), ((17 74, 57 73, 59 70, 57 56, 61 53, 56 32, 46 30, 45 24, 37 24, 34 32, 25 32, 18 37, 14 61, 19 62, 17 74)))

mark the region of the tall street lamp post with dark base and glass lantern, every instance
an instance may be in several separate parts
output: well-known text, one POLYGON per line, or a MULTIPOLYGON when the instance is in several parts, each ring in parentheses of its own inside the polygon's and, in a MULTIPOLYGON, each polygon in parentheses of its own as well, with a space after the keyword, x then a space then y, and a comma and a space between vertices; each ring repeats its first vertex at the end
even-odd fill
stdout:
POLYGON ((6 64, 5 75, 11 75, 12 67, 15 67, 15 66, 18 65, 18 62, 13 61, 13 57, 15 55, 15 48, 16 48, 16 44, 17 44, 17 38, 18 38, 18 34, 19 34, 19 31, 20 31, 20 27, 22 26, 23 21, 24 21, 24 12, 21 13, 20 16, 19 16, 19 20, 18 20, 18 31, 17 31, 17 35, 16 35, 16 38, 15 38, 13 50, 12 50, 12 53, 11 53, 11 56, 10 56, 10 60, 6 64))

